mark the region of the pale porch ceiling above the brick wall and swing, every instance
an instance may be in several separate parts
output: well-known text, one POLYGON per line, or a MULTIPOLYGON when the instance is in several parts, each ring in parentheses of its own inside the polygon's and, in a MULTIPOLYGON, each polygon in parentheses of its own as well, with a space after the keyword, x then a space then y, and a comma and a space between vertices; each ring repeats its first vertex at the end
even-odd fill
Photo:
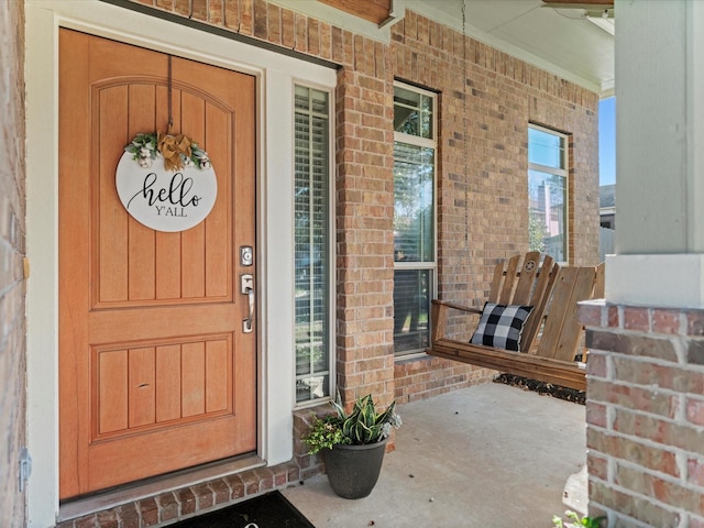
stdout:
MULTIPOLYGON (((463 0, 396 0, 462 31, 463 0)), ((614 92, 614 9, 608 0, 465 0, 464 31, 598 92, 614 92), (603 14, 606 11, 607 18, 603 14)))

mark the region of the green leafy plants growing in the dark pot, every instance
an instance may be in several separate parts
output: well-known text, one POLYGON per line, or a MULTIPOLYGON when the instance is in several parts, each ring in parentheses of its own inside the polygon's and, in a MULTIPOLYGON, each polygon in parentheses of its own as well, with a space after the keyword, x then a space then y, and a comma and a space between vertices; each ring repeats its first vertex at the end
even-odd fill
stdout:
POLYGON ((338 444, 376 443, 402 425, 400 416, 396 414, 396 402, 386 410, 377 413, 371 394, 354 402, 350 414, 344 410, 340 393, 337 402, 331 404, 337 415, 322 419, 314 417, 310 430, 302 438, 308 444, 308 454, 315 454, 321 449, 332 449, 338 444))

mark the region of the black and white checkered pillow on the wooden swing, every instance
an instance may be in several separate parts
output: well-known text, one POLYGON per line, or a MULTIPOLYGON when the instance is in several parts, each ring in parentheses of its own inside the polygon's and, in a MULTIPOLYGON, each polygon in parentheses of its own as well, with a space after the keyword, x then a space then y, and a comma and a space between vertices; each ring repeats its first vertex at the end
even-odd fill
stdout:
POLYGON ((518 352, 520 334, 530 310, 532 306, 486 302, 480 317, 480 324, 470 343, 518 352))

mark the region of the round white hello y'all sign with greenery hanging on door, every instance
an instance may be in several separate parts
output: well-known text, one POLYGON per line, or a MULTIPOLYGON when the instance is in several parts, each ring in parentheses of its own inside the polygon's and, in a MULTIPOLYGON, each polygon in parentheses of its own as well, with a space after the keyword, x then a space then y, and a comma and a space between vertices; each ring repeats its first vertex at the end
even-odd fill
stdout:
POLYGON ((188 138, 170 134, 138 134, 118 163, 116 186, 132 218, 166 232, 202 222, 218 195, 208 154, 188 138))

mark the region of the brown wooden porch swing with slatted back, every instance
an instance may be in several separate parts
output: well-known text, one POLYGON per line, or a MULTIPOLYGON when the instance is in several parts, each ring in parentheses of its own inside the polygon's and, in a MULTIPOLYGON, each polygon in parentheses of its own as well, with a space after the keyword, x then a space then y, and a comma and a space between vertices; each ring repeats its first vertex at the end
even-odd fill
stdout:
MULTIPOLYGON (((480 332, 475 331, 473 341, 479 343, 452 339, 447 333, 451 309, 475 316, 482 316, 483 310, 435 299, 431 307, 431 345, 427 352, 438 358, 583 391, 586 388, 586 350, 582 346, 578 302, 603 296, 604 264, 569 267, 558 265, 552 257, 539 252, 515 255, 496 265, 486 301, 512 308, 516 305, 532 307, 522 324, 520 344, 515 346, 517 350, 479 344, 487 342, 487 332, 496 328, 492 321, 497 320, 497 311, 494 311, 494 319, 488 319, 488 324, 480 324, 480 332), (576 361, 580 354, 582 361, 576 361)), ((480 323, 487 322, 487 315, 480 319, 480 323)), ((515 321, 506 316, 498 326, 505 327, 506 320, 515 321)), ((514 322, 514 327, 519 324, 514 322)), ((488 341, 492 341, 492 336, 488 336, 488 341)))

